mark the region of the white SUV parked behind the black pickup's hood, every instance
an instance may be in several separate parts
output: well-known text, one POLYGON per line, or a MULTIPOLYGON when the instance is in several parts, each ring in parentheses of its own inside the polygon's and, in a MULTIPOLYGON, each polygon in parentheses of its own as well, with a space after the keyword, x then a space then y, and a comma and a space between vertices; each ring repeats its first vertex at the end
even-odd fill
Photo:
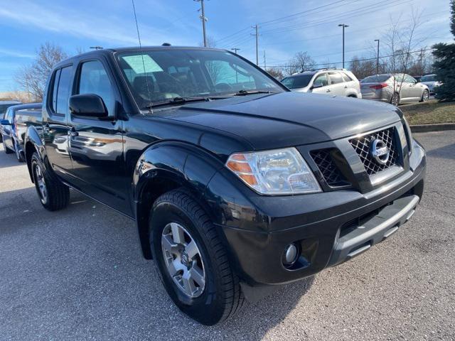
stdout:
POLYGON ((296 92, 362 98, 358 79, 346 69, 304 71, 285 77, 282 83, 296 92))

